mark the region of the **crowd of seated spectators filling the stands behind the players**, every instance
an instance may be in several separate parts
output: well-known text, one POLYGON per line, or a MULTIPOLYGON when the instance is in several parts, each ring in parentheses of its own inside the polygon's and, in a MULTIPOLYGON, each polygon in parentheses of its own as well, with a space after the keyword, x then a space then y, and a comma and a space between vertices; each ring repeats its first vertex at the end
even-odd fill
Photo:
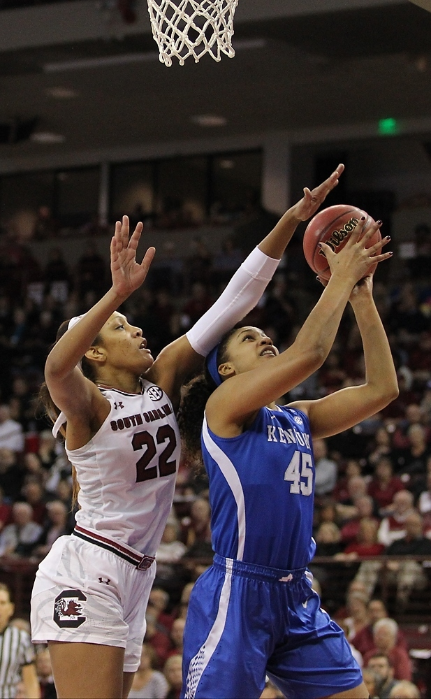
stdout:
MULTIPOLYGON (((143 328, 153 354, 210 307, 245 257, 231 238, 218 256, 208 252, 203 240, 195 243, 187 259, 156 261, 143 289, 124 306, 131 322, 143 328)), ((94 243, 85 247, 75 268, 54 246, 45 266, 37 264, 30 247, 10 238, 0 237, 0 248, 1 562, 1 556, 41 559, 59 535, 73 529, 71 465, 63 445, 52 438, 37 391, 59 324, 85 312, 103 294, 108 270, 94 243)), ((363 665, 370 696, 380 699, 420 696, 411 684, 402 631, 379 598, 382 563, 373 556, 407 554, 418 559, 388 564, 397 613, 408 610, 414 591, 430 584, 431 277, 424 269, 405 266, 393 281, 378 273, 374 284, 400 396, 351 430, 314 442, 316 556, 352 563, 360 559, 346 607, 334 616, 363 665)), ((294 241, 247 322, 262 327, 279 349, 285 349, 319 293, 294 241)), ((316 398, 360 382, 360 356, 360 337, 347 310, 321 370, 285 400, 316 398)), ((211 556, 205 474, 196 475, 196 464, 182 462, 173 510, 156 555, 147 634, 131 697, 179 696, 188 599, 211 556)), ((312 571, 324 602, 331 586, 328 569, 317 559, 312 571)), ((47 684, 43 696, 54 696, 48 687, 52 678, 45 649, 38 652, 37 668, 47 684)), ((262 697, 277 696, 269 683, 262 697)))

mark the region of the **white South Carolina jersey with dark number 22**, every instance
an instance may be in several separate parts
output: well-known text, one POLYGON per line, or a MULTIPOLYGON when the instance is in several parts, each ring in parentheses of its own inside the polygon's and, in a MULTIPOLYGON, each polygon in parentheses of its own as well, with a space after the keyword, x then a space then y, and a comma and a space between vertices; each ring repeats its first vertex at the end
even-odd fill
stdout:
POLYGON ((76 523, 147 556, 155 556, 172 506, 180 432, 172 403, 143 380, 141 394, 101 389, 108 417, 80 449, 67 449, 80 491, 76 523))

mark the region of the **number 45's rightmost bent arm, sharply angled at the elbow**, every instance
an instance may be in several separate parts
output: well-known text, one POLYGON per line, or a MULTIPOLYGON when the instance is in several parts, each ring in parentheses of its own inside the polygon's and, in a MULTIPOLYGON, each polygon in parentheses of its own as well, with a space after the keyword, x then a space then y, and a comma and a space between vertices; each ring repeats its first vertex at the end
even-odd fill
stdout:
POLYGON ((329 437, 385 408, 398 395, 397 374, 379 312, 372 297, 372 275, 353 288, 349 301, 358 323, 365 358, 365 383, 317 401, 295 403, 309 416, 314 438, 329 437))

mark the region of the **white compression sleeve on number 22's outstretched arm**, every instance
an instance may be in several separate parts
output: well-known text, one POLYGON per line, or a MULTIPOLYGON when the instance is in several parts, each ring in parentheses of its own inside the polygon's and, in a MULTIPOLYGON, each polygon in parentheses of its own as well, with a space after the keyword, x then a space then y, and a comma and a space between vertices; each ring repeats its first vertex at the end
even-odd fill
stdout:
POLYGON ((195 352, 207 356, 224 333, 255 307, 278 265, 279 260, 254 248, 221 296, 186 333, 195 352))

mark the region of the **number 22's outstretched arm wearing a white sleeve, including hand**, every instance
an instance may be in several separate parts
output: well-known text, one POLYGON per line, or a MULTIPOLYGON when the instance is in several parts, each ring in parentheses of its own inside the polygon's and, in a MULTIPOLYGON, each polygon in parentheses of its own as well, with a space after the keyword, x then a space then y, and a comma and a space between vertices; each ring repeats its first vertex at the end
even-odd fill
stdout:
POLYGON ((159 384, 174 403, 179 401, 184 380, 201 368, 203 357, 258 303, 298 224, 316 213, 328 193, 337 186, 343 171, 344 165, 339 164, 319 187, 312 191, 305 187, 302 199, 286 211, 274 229, 251 252, 210 310, 186 335, 159 354, 147 377, 159 384))

